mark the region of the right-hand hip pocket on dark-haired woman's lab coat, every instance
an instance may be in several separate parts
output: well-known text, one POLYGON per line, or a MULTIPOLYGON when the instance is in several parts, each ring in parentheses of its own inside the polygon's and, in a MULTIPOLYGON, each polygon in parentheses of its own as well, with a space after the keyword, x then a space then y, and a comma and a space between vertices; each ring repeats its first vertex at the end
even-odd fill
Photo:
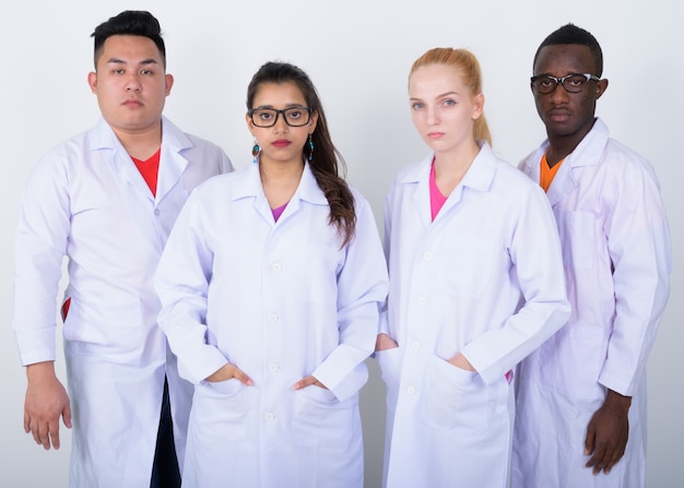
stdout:
POLYGON ((316 385, 295 392, 297 443, 345 450, 352 441, 355 404, 356 396, 340 402, 330 390, 316 385))

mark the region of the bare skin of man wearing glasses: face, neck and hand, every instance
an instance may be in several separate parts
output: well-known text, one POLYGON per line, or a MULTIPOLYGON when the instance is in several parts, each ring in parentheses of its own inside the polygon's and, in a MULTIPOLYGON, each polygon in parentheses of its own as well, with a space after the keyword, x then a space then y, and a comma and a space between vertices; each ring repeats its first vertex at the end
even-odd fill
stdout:
MULTIPOLYGON (((597 74, 594 60, 588 46, 578 44, 544 46, 534 63, 534 74, 562 78, 569 73, 597 74)), ((608 87, 608 80, 590 81, 579 93, 567 93, 562 86, 550 94, 533 93, 536 111, 546 126, 550 164, 570 154, 585 139, 594 123, 597 100, 608 87)), ((609 390, 603 405, 593 414, 587 426, 586 466, 594 475, 609 474, 627 445, 629 421, 627 414, 632 397, 609 390)))

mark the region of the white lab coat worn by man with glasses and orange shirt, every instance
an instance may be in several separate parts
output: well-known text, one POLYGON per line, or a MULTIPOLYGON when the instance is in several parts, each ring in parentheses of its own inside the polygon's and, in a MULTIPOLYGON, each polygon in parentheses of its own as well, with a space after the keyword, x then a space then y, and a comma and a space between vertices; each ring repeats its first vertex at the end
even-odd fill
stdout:
MULTIPOLYGON (((520 164, 539 182, 545 141, 520 164)), ((644 487, 646 361, 669 295, 670 233, 647 160, 597 119, 547 191, 573 314, 521 365, 514 486, 644 487), (633 396, 629 440, 610 475, 585 467, 587 425, 606 389, 633 396)))

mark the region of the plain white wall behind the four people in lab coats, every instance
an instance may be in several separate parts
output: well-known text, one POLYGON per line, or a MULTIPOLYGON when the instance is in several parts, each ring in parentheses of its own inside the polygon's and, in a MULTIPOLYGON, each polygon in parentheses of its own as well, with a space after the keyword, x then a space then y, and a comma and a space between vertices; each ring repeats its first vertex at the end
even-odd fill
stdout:
MULTIPOLYGON (((411 63, 436 46, 465 47, 484 71, 494 148, 517 163, 544 136, 528 80, 532 57, 555 28, 574 22, 604 51, 611 83, 598 115, 613 136, 653 163, 672 226, 672 296, 649 369, 649 487, 683 486, 684 7, 680 0, 22 0, 0 13, 0 486, 66 487, 70 437, 44 452, 23 432, 24 370, 11 330, 13 240, 20 191, 38 157, 93 124, 93 28, 126 9, 155 14, 165 32, 176 84, 166 115, 188 132, 250 164, 246 87, 268 60, 298 64, 322 97, 349 179, 370 200, 380 225, 397 170, 426 152, 406 103, 411 63)), ((58 371, 63 379, 63 360, 58 371)), ((372 364, 363 391, 367 486, 379 485, 384 386, 372 364)), ((123 487, 127 488, 127 487, 123 487)))

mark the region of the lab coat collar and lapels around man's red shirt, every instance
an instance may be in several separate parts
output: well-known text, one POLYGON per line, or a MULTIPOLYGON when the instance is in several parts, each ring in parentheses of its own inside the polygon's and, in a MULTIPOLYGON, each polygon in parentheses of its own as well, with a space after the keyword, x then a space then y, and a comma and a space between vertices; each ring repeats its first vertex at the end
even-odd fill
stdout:
MULTIPOLYGON (((188 165, 188 160, 182 156, 182 152, 193 146, 192 141, 178 127, 166 117, 162 117, 162 152, 160 154, 156 198, 154 199, 157 203, 164 199, 180 179, 188 165)), ((109 159, 115 170, 128 185, 146 194, 150 200, 153 200, 148 185, 130 155, 119 142, 111 127, 102 117, 95 126, 93 148, 96 151, 109 150, 109 159)))

